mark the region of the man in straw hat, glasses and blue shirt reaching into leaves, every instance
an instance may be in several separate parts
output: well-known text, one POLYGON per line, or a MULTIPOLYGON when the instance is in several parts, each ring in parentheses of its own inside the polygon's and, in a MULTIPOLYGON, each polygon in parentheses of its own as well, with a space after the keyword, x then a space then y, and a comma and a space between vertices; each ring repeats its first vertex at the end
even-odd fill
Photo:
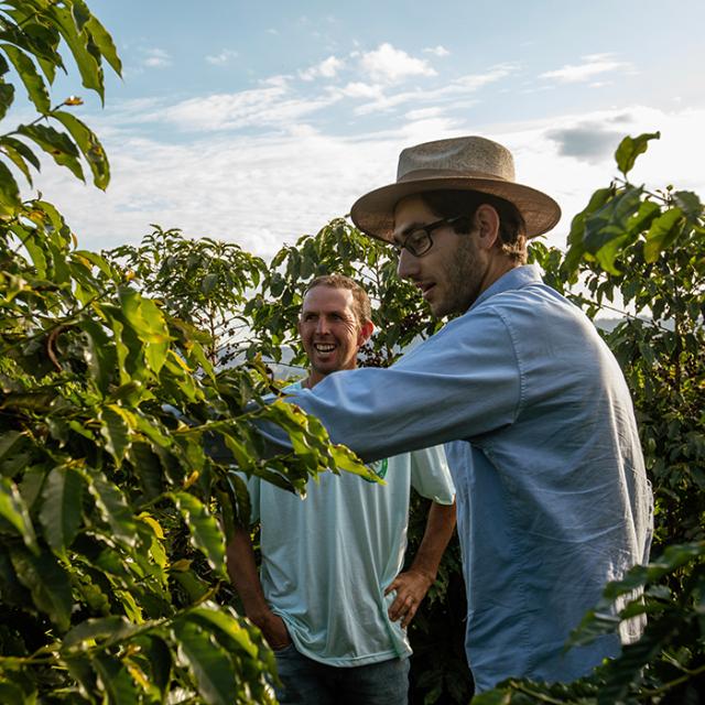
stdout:
POLYGON ((651 491, 621 370, 590 321, 527 265, 560 218, 478 137, 405 149, 397 183, 351 217, 399 252, 436 316, 460 314, 388 369, 330 375, 291 401, 365 460, 445 443, 478 692, 570 681, 641 621, 567 652, 605 584, 647 560, 651 491))

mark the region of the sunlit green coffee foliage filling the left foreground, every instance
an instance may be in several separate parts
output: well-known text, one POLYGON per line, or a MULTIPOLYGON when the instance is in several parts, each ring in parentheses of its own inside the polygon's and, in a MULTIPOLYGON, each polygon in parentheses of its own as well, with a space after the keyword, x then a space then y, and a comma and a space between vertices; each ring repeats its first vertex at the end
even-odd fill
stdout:
MULTIPOLYGON (((29 178, 22 164, 40 162, 13 135, 34 139, 77 176, 83 153, 106 185, 97 140, 51 110, 43 87, 64 68, 63 39, 84 86, 102 97, 101 61, 119 69, 109 35, 83 0, 4 7, 0 58, 41 117, 0 139, 3 158, 29 178)), ((3 83, 6 109, 12 96, 3 83)), ((207 334, 75 249, 58 210, 22 202, 0 166, 0 699, 273 702, 271 651, 223 604, 217 517, 228 530, 249 511, 229 463, 291 490, 361 466, 295 409, 247 406, 269 391, 261 366, 216 375, 207 334), (296 452, 265 459, 261 420, 296 452), (227 463, 206 445, 227 448, 227 463)))

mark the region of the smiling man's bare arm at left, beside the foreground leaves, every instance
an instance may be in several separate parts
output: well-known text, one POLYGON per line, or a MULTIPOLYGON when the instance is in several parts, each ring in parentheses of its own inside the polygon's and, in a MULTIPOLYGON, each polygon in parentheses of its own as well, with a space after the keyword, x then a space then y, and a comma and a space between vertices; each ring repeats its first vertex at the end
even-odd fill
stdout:
POLYGON ((276 650, 291 643, 284 620, 275 615, 264 598, 262 584, 257 572, 254 551, 250 533, 242 527, 235 528, 232 540, 226 550, 228 574, 238 592, 245 614, 264 634, 269 646, 276 650))

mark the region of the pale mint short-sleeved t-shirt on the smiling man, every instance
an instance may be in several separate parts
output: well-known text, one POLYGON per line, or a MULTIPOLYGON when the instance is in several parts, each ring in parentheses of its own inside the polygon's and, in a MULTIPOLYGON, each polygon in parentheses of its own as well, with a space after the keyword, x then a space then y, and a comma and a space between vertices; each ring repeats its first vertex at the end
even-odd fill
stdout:
POLYGON ((404 563, 410 487, 440 505, 455 500, 442 447, 375 465, 387 485, 324 473, 303 500, 258 477, 248 481, 267 601, 296 650, 327 665, 411 654, 406 630, 388 615, 394 594, 384 595, 404 563))

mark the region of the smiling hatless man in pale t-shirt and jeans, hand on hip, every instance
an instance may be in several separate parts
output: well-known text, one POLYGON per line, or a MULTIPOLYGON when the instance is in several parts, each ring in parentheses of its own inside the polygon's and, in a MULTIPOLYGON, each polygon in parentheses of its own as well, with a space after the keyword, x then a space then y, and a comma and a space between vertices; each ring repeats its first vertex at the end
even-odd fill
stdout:
MULTIPOLYGON (((297 386, 355 369, 372 329, 369 299, 356 282, 314 280, 299 322, 311 368, 297 386)), ((406 627, 453 533, 455 491, 440 447, 378 460, 375 469, 386 486, 323 475, 304 501, 258 478, 249 482, 261 575, 245 528, 228 546, 228 570, 247 616, 274 649, 283 704, 408 702, 406 627), (411 486, 433 501, 402 573, 411 486)))

